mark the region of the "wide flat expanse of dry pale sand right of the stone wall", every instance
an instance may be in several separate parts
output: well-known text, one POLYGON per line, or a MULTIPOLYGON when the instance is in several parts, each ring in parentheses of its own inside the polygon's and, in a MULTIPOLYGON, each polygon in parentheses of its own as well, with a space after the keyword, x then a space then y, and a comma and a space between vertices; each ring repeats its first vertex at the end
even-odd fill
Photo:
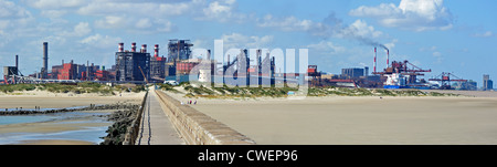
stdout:
POLYGON ((194 108, 263 145, 497 144, 497 97, 197 101, 194 108))

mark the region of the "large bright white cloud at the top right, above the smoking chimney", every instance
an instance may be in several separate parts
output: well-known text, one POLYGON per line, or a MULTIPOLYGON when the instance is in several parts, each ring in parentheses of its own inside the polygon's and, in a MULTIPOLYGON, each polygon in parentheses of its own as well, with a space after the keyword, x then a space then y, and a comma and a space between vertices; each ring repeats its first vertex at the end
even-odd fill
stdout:
POLYGON ((381 3, 377 7, 361 6, 350 15, 373 18, 380 24, 403 30, 448 30, 453 15, 443 7, 443 0, 401 0, 399 6, 381 3))

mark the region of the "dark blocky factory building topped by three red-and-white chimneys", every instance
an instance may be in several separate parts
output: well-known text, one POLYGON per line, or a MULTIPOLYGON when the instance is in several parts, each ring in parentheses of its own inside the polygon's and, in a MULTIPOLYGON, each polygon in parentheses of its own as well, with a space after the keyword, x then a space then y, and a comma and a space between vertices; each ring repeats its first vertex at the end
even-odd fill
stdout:
POLYGON ((131 51, 124 51, 124 43, 119 43, 116 52, 116 81, 145 81, 149 77, 150 53, 147 53, 147 45, 142 44, 137 52, 135 42, 131 43, 131 51))

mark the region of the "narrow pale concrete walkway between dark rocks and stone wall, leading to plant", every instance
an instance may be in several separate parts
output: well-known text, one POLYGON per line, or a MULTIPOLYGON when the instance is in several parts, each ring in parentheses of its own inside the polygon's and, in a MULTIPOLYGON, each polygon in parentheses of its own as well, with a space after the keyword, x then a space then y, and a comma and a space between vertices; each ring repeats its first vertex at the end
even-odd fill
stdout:
POLYGON ((158 101, 157 94, 151 90, 145 103, 140 131, 136 139, 136 145, 184 145, 175 126, 166 116, 165 111, 169 109, 158 101))

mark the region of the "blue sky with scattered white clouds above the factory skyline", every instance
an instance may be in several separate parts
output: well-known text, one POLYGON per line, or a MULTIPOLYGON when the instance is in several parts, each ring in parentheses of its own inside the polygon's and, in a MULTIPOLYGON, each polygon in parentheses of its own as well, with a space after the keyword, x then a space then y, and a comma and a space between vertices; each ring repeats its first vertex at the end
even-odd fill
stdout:
MULTIPOLYGON (((453 72, 482 85, 497 76, 494 0, 0 0, 0 66, 20 55, 24 74, 40 71, 42 42, 49 65, 87 60, 110 66, 117 43, 165 48, 190 39, 194 48, 309 49, 309 64, 340 73, 372 69, 373 45, 391 60, 453 72), (369 41, 369 42, 368 42, 369 41)), ((166 55, 165 49, 160 50, 166 55)), ((378 52, 378 69, 385 66, 378 52)))

